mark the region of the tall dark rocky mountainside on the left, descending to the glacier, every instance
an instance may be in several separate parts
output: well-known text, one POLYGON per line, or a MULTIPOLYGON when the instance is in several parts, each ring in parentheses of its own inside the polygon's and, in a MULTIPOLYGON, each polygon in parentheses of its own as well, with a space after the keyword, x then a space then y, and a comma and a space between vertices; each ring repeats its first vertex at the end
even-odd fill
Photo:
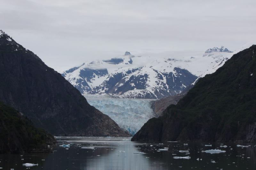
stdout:
POLYGON ((56 136, 128 136, 33 52, 0 32, 0 101, 56 136))

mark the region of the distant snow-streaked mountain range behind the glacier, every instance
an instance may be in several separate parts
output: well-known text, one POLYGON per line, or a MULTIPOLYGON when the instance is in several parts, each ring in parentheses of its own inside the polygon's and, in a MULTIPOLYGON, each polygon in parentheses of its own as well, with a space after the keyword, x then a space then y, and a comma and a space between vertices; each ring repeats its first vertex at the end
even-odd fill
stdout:
POLYGON ((214 72, 232 53, 223 46, 209 48, 201 56, 180 58, 134 56, 126 51, 109 60, 85 62, 61 75, 82 94, 162 99, 182 93, 205 72, 214 72))

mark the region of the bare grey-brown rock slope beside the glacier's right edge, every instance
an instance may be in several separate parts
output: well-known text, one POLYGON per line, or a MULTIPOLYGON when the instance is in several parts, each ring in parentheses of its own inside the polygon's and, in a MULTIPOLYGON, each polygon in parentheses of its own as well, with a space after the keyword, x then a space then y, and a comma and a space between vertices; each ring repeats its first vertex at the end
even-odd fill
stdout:
POLYGON ((152 102, 152 108, 154 110, 155 116, 159 117, 162 115, 163 111, 170 105, 176 105, 178 101, 184 97, 185 94, 177 94, 175 96, 169 96, 163 99, 154 100, 152 102))

